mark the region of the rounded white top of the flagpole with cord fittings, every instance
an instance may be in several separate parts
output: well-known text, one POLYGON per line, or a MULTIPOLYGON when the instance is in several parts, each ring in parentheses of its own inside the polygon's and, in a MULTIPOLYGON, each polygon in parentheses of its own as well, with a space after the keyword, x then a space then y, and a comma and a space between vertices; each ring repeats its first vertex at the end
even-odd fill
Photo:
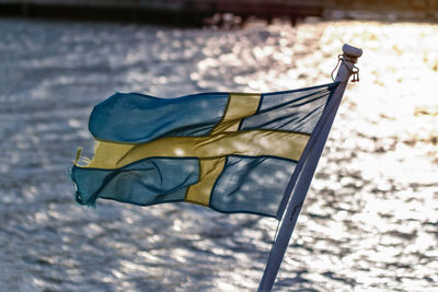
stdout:
MULTIPOLYGON (((353 82, 359 81, 359 68, 355 66, 357 59, 362 56, 362 50, 354 46, 345 44, 343 46, 343 55, 338 57, 338 65, 341 62, 339 70, 337 71, 335 82, 347 82, 349 77, 353 74, 353 82)), ((337 66, 336 66, 337 68, 337 66)), ((335 68, 335 70, 336 70, 335 68)), ((334 73, 334 70, 332 74, 334 73)), ((333 75, 332 75, 333 79, 333 75)))

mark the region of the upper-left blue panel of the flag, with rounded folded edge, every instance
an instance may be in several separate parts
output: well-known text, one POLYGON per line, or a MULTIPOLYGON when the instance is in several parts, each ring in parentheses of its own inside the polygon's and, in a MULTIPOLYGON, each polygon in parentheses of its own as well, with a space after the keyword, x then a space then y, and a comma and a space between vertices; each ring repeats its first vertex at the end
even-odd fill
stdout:
POLYGON ((222 118, 227 102, 228 93, 177 98, 116 93, 94 107, 89 129, 101 140, 136 143, 159 137, 205 136, 222 118))

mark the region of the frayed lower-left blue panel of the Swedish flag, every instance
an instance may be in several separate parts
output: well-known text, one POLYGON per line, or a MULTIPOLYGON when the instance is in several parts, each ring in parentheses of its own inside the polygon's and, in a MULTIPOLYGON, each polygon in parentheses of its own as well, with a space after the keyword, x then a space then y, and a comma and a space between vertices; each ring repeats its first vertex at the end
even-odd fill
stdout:
POLYGON ((93 206, 97 198, 140 206, 183 201, 187 186, 199 178, 198 159, 151 157, 117 170, 73 166, 77 202, 93 206))

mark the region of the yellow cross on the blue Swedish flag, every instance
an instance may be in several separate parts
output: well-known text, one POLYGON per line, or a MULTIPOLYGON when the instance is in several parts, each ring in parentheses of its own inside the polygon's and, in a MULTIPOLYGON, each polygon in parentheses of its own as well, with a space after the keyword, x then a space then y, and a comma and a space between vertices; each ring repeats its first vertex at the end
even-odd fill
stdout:
POLYGON ((188 187, 185 201, 208 206, 212 187, 227 155, 270 155, 298 161, 309 135, 279 130, 239 130, 242 119, 254 115, 261 94, 230 93, 222 119, 203 137, 165 137, 145 143, 96 141, 88 165, 115 170, 147 157, 198 157, 199 180, 188 187))

